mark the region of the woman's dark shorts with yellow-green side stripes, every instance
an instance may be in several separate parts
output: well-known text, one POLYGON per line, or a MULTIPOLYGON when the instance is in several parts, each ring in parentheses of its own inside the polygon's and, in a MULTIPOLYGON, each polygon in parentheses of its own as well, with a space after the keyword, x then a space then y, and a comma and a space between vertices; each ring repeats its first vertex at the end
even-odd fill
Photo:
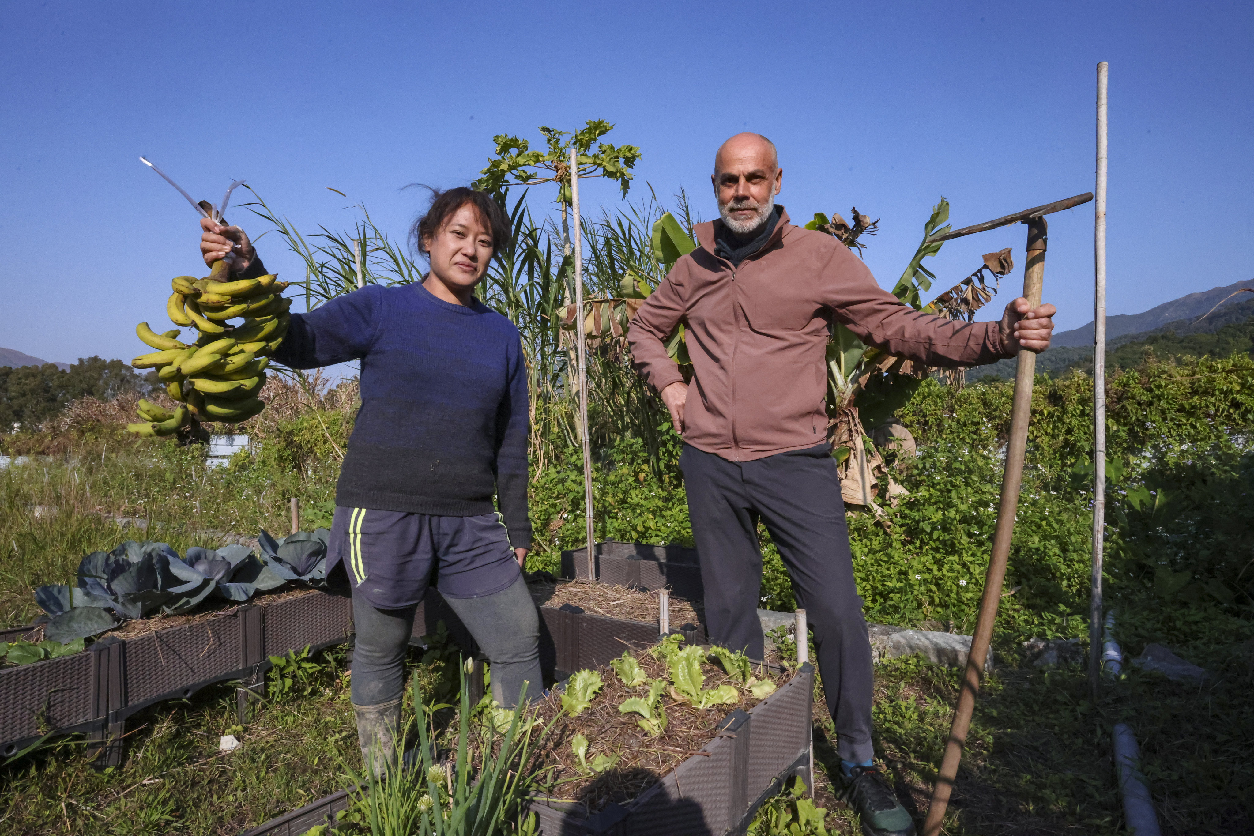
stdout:
POLYGON ((337 505, 327 574, 341 562, 354 594, 379 609, 416 604, 433 582, 445 598, 482 598, 519 575, 499 514, 434 516, 337 505))

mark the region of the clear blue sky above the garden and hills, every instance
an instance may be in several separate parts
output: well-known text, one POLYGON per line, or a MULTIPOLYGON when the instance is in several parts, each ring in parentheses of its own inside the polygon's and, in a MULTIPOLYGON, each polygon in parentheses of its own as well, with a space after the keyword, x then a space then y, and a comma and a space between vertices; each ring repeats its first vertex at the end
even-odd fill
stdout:
MULTIPOLYGON (((709 218, 715 148, 757 130, 779 145, 794 218, 850 206, 880 218, 865 258, 890 287, 942 194, 967 226, 1092 189, 1100 60, 1110 312, 1254 276, 1249 3, 4 10, 0 346, 45 360, 147 351, 134 323, 164 323, 169 278, 199 274, 196 216, 139 154, 197 198, 247 178, 301 229, 350 227, 364 203, 400 237, 421 208, 401 187, 466 183, 497 133, 613 122, 609 139, 643 152, 631 196, 682 187, 709 218)), ((589 183, 583 202, 618 198, 589 183)), ((930 267, 948 286, 1013 247, 1013 290, 1023 229, 947 243, 930 267)), ((271 241, 266 263, 300 280, 271 241)), ((1052 216, 1045 281, 1061 328, 1092 318, 1091 204, 1052 216)))

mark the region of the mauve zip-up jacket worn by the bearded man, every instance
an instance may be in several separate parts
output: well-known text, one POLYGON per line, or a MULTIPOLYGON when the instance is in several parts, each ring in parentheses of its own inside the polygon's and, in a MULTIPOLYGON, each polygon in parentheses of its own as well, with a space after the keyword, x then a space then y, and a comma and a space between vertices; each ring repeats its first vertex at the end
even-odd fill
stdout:
POLYGON ((732 268, 715 256, 715 224, 675 263, 631 321, 636 367, 658 391, 682 381, 662 341, 685 326, 695 372, 683 440, 731 461, 804 450, 826 436, 828 325, 929 366, 979 366, 1006 357, 997 322, 919 313, 875 283, 839 241, 789 223, 732 268))

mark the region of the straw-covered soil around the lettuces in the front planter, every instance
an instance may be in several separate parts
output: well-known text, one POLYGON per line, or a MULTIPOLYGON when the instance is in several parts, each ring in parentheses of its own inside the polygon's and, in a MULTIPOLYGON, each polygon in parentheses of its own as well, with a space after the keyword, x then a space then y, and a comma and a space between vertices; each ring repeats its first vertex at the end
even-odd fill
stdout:
MULTIPOLYGON (((641 668, 651 679, 667 677, 666 664, 655 659, 647 651, 636 653, 641 668)), ((740 702, 735 706, 715 706, 698 709, 677 702, 668 694, 662 696, 666 708, 666 732, 651 737, 636 724, 638 714, 622 713, 618 706, 630 697, 640 697, 648 692, 647 686, 628 688, 613 668, 599 668, 604 683, 602 691, 577 717, 563 714, 548 727, 538 741, 532 761, 533 768, 547 770, 542 787, 552 787, 549 797, 554 801, 574 801, 583 803, 589 813, 601 810, 609 802, 626 802, 662 780, 681 762, 692 757, 715 737, 717 724, 736 708, 749 711, 760 699, 737 688, 740 702), (578 770, 578 760, 571 751, 571 738, 582 733, 591 741, 587 760, 597 755, 618 756, 618 762, 601 775, 584 776, 578 770), (548 767, 554 767, 548 770, 548 767)), ((714 664, 702 666, 705 688, 716 688, 731 681, 722 668, 714 664)), ((789 673, 772 673, 767 668, 755 669, 759 679, 770 679, 781 686, 790 678, 789 673)), ((535 704, 537 717, 548 724, 562 708, 561 694, 551 693, 535 704)))

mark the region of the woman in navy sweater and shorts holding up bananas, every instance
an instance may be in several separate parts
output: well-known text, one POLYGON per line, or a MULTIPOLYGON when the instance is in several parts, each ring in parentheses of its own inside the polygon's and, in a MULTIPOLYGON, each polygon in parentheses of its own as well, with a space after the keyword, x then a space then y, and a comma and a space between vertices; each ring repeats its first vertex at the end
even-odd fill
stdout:
MULTIPOLYGON (((242 229, 201 227, 206 263, 229 256, 241 277, 265 274, 242 229)), ((508 236, 487 194, 434 193, 410 231, 426 278, 293 313, 273 357, 292 368, 361 361, 327 572, 342 567, 352 590, 352 708, 376 773, 395 762, 405 651, 433 573, 492 662, 493 698, 513 708, 524 682, 530 694, 542 687, 539 618, 520 572, 532 540, 522 340, 474 297, 508 236)))

